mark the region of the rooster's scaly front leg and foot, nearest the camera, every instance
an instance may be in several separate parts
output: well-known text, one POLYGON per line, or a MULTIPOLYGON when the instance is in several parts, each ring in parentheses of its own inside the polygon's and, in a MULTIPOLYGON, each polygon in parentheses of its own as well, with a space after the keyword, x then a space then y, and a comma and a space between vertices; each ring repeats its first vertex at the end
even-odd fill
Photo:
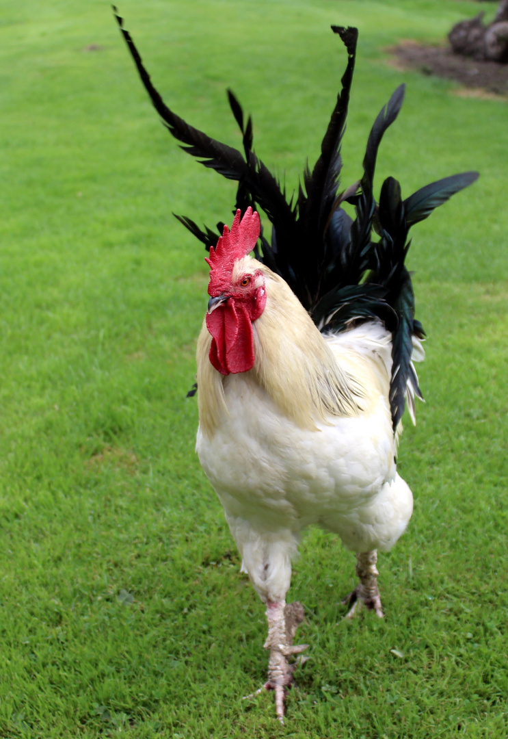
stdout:
POLYGON ((288 603, 287 605, 284 601, 268 603, 268 637, 264 643, 264 648, 270 650, 268 680, 262 688, 246 696, 246 698, 253 698, 263 690, 273 690, 275 692, 275 712, 281 723, 284 723, 284 700, 287 689, 293 683, 293 673, 296 667, 304 661, 304 658, 300 656, 295 662, 289 662, 288 658, 292 655, 301 655, 303 650, 309 646, 309 644, 293 644, 296 630, 303 621, 303 617, 301 603, 288 603))

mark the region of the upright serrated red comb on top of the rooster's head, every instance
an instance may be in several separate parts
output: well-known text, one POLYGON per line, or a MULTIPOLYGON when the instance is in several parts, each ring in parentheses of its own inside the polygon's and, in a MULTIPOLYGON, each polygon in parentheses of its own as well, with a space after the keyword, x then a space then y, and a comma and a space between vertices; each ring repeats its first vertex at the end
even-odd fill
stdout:
POLYGON ((236 259, 241 259, 253 251, 258 240, 259 216, 253 209, 247 208, 244 217, 240 220, 241 210, 236 211, 231 231, 224 226, 222 236, 216 248, 210 247, 210 256, 205 261, 210 265, 210 284, 208 294, 222 293, 230 286, 231 272, 236 259))

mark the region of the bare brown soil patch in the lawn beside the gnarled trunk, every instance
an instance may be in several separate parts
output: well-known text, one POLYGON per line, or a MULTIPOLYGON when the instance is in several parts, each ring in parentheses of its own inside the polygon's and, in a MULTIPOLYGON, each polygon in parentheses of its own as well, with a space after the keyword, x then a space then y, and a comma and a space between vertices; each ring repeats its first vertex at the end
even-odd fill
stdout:
POLYGON ((453 54, 447 47, 420 46, 416 41, 401 41, 388 51, 398 69, 416 69, 424 75, 455 80, 469 89, 508 97, 508 64, 478 61, 453 54))

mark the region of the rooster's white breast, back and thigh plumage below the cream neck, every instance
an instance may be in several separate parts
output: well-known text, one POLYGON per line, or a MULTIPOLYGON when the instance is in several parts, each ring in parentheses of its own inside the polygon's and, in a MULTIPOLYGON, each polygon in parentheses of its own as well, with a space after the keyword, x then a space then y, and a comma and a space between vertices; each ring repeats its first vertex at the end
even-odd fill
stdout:
POLYGON ((213 437, 198 432, 199 459, 264 599, 285 593, 306 526, 334 531, 354 551, 386 550, 411 517, 411 491, 394 463, 389 335, 374 323, 326 340, 370 388, 360 415, 303 429, 246 372, 224 379, 213 437))

